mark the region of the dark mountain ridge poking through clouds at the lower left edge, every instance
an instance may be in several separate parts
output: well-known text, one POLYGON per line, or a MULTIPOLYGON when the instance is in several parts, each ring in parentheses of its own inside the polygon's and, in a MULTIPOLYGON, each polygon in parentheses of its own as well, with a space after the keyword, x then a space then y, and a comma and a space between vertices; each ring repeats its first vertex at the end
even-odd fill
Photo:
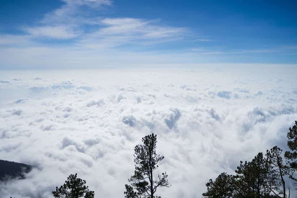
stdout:
POLYGON ((0 160, 0 180, 6 179, 24 179, 24 173, 32 170, 33 166, 17 163, 13 161, 0 160))

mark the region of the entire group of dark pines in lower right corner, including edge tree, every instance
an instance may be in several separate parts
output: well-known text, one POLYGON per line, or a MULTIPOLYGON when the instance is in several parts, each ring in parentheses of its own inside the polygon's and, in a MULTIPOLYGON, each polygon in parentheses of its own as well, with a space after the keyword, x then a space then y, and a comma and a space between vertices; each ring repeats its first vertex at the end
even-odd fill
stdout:
MULTIPOLYGON (((236 175, 220 174, 213 182, 206 183, 208 198, 290 198, 290 188, 286 187, 286 177, 297 181, 297 121, 287 134, 288 147, 285 152, 286 164, 282 159, 282 149, 274 146, 258 153, 250 162, 240 161, 236 175)), ((297 189, 296 189, 297 190, 297 189)))

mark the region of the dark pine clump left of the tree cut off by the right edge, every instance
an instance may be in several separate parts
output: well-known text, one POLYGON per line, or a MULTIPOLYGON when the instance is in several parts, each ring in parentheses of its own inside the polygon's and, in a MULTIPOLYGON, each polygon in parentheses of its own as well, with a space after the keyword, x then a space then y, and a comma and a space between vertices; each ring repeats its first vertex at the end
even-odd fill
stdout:
MULTIPOLYGON (((207 198, 274 198, 283 197, 281 176, 278 174, 277 163, 274 157, 280 157, 281 150, 273 147, 268 151, 267 158, 263 153, 250 162, 240 161, 240 165, 235 170, 236 175, 220 174, 213 182, 212 179, 206 183, 207 192, 202 195, 207 198), (276 166, 274 166, 276 163, 276 166), (273 192, 272 192, 273 190, 273 192), (278 196, 277 196, 278 195, 278 196)), ((280 166, 283 168, 283 166, 280 166)), ((282 176, 285 173, 282 173, 282 176)))

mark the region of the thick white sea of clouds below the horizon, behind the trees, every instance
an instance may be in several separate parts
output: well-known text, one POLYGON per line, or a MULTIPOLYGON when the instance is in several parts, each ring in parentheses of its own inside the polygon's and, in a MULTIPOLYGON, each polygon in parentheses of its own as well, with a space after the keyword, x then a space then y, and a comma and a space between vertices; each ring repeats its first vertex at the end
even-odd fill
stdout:
POLYGON ((287 149, 296 77, 290 67, 0 71, 0 159, 36 167, 0 195, 52 197, 77 173, 95 197, 124 197, 134 147, 155 133, 172 183, 157 195, 200 198, 239 161, 287 149))

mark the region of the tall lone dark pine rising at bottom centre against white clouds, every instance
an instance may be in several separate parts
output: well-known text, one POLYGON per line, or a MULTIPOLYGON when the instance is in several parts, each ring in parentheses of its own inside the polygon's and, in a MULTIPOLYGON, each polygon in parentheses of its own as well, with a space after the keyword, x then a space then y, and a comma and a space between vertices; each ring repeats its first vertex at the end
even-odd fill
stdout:
POLYGON ((129 179, 131 186, 125 185, 126 192, 124 194, 126 198, 158 198, 154 195, 158 187, 171 186, 166 172, 153 180, 153 171, 158 168, 158 162, 164 159, 164 156, 156 153, 157 136, 150 134, 143 137, 142 142, 142 145, 137 145, 134 149, 135 171, 129 179))

